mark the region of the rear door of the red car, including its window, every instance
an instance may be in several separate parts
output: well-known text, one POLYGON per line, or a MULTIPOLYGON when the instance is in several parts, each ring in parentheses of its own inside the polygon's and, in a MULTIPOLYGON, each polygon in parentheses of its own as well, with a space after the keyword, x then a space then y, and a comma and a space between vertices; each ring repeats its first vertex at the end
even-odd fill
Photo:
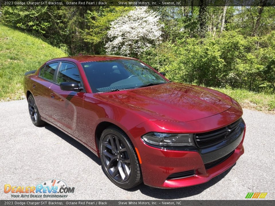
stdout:
POLYGON ((53 118, 50 104, 50 87, 53 84, 59 64, 60 62, 52 62, 43 66, 39 71, 39 75, 33 79, 35 82, 32 85, 32 92, 36 101, 36 106, 40 115, 49 121, 52 121, 53 118))

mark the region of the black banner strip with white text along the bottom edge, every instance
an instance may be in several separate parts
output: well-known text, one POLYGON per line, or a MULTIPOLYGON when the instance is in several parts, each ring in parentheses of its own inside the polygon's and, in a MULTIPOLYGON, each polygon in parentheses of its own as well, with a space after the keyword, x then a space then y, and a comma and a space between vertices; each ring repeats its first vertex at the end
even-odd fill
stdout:
POLYGON ((269 206, 274 205, 274 200, 0 200, 0 206, 20 206, 20 205, 81 205, 81 206, 93 206, 93 205, 177 205, 177 206, 230 206, 230 205, 242 205, 242 206, 269 206))

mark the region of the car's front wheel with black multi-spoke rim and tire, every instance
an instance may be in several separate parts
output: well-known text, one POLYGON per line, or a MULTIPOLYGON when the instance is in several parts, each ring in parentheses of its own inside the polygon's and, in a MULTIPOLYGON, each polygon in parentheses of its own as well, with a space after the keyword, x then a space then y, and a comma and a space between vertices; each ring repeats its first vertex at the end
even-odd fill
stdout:
POLYGON ((127 134, 114 126, 105 129, 99 140, 103 169, 118 187, 130 189, 142 182, 134 146, 127 134))

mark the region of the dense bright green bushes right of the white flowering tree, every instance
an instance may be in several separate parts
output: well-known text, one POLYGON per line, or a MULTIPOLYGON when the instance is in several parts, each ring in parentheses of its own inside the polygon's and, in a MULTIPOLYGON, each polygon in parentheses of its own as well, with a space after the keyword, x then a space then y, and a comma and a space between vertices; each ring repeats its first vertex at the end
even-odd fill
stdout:
POLYGON ((158 50, 147 51, 140 58, 165 71, 172 81, 274 92, 274 35, 244 37, 224 31, 221 37, 164 42, 158 50))

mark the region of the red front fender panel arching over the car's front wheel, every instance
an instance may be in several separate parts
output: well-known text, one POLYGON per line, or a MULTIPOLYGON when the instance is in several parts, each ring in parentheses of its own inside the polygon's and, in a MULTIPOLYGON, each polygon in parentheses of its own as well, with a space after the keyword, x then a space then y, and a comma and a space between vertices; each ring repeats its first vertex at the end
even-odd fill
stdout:
MULTIPOLYGON (((110 122, 127 133, 131 128, 150 119, 151 116, 120 102, 107 102, 99 94, 87 93, 83 102, 83 122, 88 145, 97 150, 96 129, 101 122, 110 122)), ((131 137, 130 137, 131 139, 131 137)), ((134 144, 133 139, 131 141, 134 144)), ((134 144, 135 145, 135 144, 134 144)))

